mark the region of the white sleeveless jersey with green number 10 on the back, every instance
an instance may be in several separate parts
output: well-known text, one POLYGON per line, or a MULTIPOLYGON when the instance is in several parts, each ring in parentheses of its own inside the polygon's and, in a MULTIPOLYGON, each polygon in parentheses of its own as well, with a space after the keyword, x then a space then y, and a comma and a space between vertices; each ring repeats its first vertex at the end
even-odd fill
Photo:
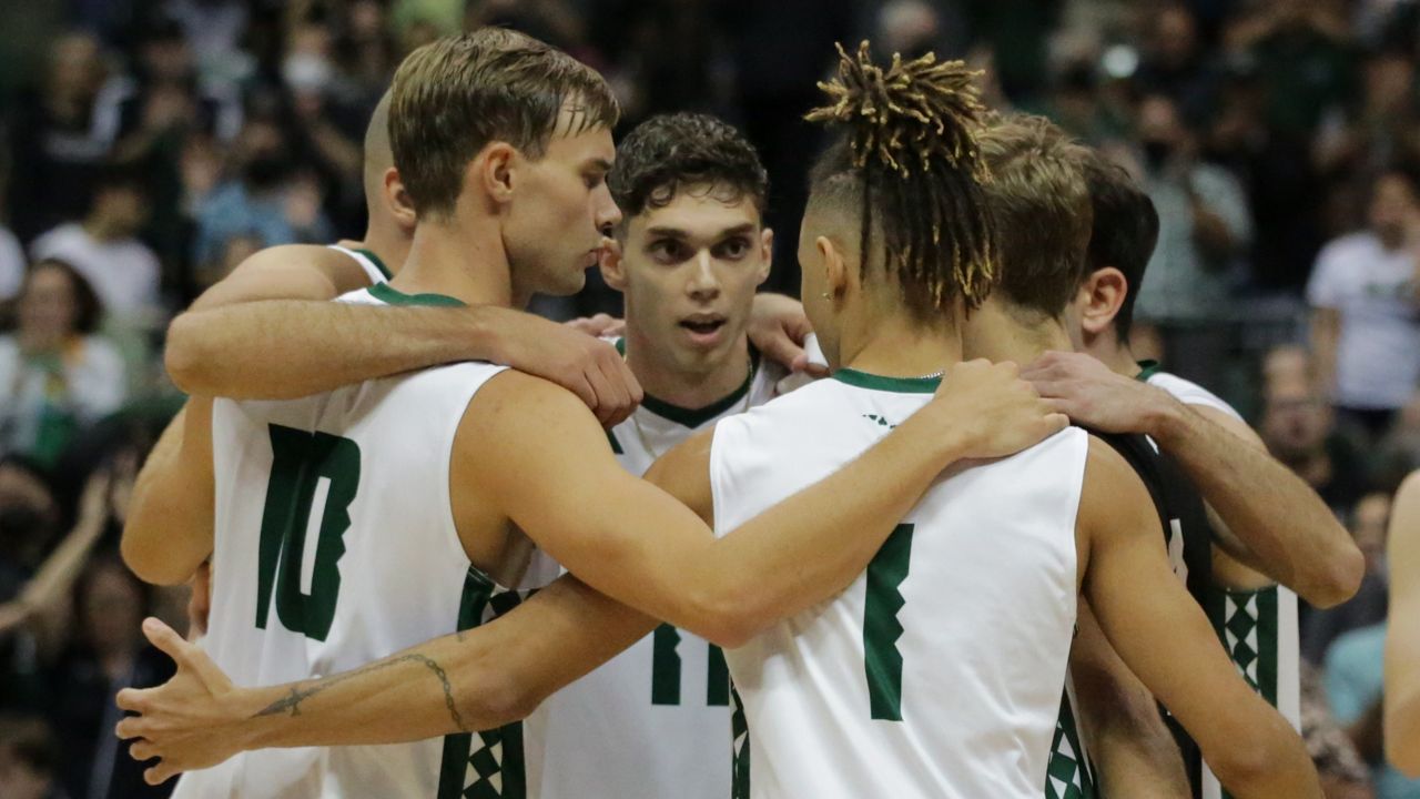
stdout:
MULTIPOLYGON (((342 300, 457 303, 383 283, 342 300)), ((204 647, 236 684, 356 668, 473 627, 517 596, 471 567, 449 493, 459 422, 503 368, 467 363, 295 401, 214 402, 204 647)), ((264 749, 185 775, 175 795, 433 799, 459 795, 473 769, 467 735, 264 749)))

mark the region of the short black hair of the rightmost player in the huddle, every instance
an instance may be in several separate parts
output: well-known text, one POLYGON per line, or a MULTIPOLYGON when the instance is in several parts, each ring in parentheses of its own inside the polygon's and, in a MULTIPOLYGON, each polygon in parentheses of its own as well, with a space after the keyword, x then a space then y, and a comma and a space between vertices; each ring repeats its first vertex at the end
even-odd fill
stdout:
POLYGON ((1091 152, 1086 159, 1085 178, 1089 202, 1095 208, 1086 276, 1105 267, 1118 269, 1125 276, 1127 286, 1115 314, 1115 333, 1120 341, 1127 341, 1135 323, 1135 297, 1159 242, 1159 212, 1122 166, 1098 152, 1091 152))

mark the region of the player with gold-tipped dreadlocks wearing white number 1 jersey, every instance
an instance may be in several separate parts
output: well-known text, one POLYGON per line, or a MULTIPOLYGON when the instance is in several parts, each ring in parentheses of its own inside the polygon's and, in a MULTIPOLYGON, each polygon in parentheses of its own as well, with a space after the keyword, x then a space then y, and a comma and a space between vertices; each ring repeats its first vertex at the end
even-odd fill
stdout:
MULTIPOLYGON (((934 392, 1010 371, 960 363, 960 324, 990 293, 997 249, 970 80, 963 64, 932 55, 882 67, 865 45, 843 54, 838 80, 824 87, 832 105, 812 118, 845 135, 814 171, 798 256, 807 310, 836 374, 721 421, 648 473, 716 535, 880 446, 892 428, 913 427, 934 392)), ((960 421, 998 424, 990 417, 960 421)), ((1213 630, 1172 576, 1147 492, 1108 445, 1064 429, 1007 458, 953 465, 892 519, 892 535, 842 593, 726 651, 747 722, 736 729, 736 796, 1038 799, 1083 591, 1127 665, 1206 749, 1255 744, 1257 758, 1244 762, 1254 768, 1224 778, 1234 796, 1321 798, 1287 724, 1221 651, 1197 657, 1213 630)), ((804 562, 780 579, 815 567, 804 562)), ((359 672, 256 697, 223 685, 186 644, 160 641, 180 668, 197 672, 163 702, 180 699, 192 719, 217 712, 213 705, 230 715, 234 702, 327 691, 300 717, 227 728, 246 745, 253 728, 273 726, 284 732, 264 745, 329 744, 355 726, 385 741, 416 726, 444 732, 430 719, 446 702, 477 707, 488 682, 454 675, 440 692, 405 661, 444 663, 450 674, 503 664, 517 675, 538 660, 567 667, 581 650, 649 628, 606 603, 554 608, 554 589, 467 640, 442 638, 359 672), (469 654, 476 640, 528 641, 534 623, 559 633, 538 658, 515 645, 486 650, 498 657, 469 654), (514 633, 520 624, 525 633, 514 633), (361 724, 379 718, 375 707, 393 711, 390 724, 361 724), (302 726, 307 734, 295 735, 302 726)), ((149 697, 145 712, 159 704, 149 697)), ((165 725, 179 722, 175 715, 168 709, 165 725)), ((142 734, 138 722, 125 725, 142 734)))

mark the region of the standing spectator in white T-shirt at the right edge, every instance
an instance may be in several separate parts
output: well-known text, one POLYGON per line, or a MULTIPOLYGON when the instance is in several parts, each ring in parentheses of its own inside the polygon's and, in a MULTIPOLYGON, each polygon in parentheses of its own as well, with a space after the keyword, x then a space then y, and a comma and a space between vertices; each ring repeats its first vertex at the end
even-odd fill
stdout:
POLYGON ((1420 385, 1417 188, 1399 169, 1376 179, 1369 227, 1326 245, 1306 287, 1322 385, 1372 439, 1420 385))

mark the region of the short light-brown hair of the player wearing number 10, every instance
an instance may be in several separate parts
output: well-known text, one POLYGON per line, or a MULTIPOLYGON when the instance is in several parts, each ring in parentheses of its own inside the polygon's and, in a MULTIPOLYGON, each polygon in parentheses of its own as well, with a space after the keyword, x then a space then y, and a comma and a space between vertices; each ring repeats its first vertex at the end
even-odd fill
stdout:
POLYGON ((612 128, 621 115, 591 67, 530 36, 486 27, 432 41, 399 65, 389 144, 415 209, 453 209, 469 162, 503 141, 540 158, 554 134, 612 128))

